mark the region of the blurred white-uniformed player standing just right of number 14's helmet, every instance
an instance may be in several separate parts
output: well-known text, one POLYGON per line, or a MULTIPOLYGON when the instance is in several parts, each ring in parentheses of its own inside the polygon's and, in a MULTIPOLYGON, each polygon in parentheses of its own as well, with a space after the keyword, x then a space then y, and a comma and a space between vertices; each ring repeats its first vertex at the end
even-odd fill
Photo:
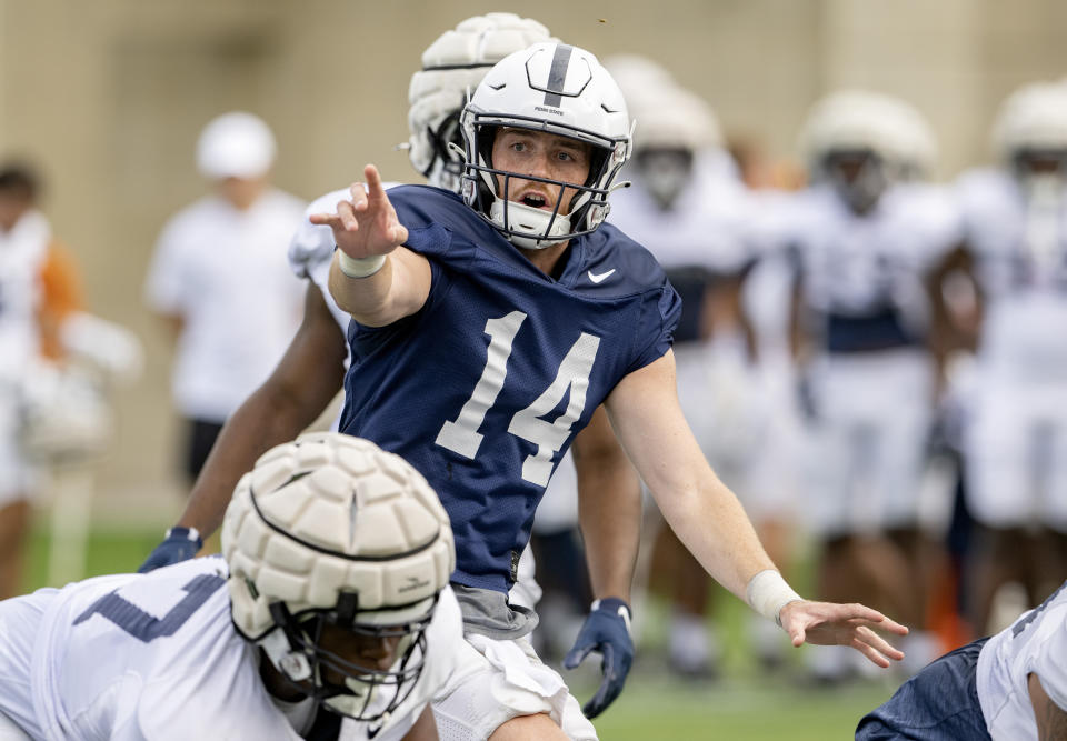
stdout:
MULTIPOLYGON (((634 184, 612 197, 609 220, 656 256, 681 296, 675 332, 681 407, 711 467, 759 522, 769 508, 757 505, 752 474, 769 410, 742 302, 755 262, 747 234, 755 214, 746 188, 704 100, 650 60, 622 56, 607 67, 621 81, 637 121, 634 159, 621 176, 634 184)), ((781 550, 771 553, 776 563, 786 555, 781 550)), ((714 675, 719 649, 708 621, 712 580, 662 522, 650 570, 649 587, 665 591, 671 604, 671 669, 714 675)), ((777 631, 768 641, 768 652, 784 648, 777 631)))

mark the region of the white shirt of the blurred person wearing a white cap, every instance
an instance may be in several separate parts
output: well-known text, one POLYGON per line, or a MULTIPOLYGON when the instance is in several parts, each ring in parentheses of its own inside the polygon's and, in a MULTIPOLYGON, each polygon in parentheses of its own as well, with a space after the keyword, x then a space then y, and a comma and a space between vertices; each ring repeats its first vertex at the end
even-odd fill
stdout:
POLYGON ((172 378, 182 414, 223 421, 285 353, 303 284, 283 256, 302 211, 302 201, 278 190, 246 211, 211 196, 163 228, 146 297, 183 320, 172 378))

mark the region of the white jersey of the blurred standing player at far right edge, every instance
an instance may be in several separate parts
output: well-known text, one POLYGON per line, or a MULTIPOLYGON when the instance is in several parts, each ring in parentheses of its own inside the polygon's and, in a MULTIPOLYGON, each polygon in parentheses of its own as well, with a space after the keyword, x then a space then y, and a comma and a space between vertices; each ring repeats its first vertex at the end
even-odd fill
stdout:
POLYGON ((984 367, 1020 381, 1067 377, 1067 190, 1026 197, 998 170, 957 187, 985 301, 984 367))

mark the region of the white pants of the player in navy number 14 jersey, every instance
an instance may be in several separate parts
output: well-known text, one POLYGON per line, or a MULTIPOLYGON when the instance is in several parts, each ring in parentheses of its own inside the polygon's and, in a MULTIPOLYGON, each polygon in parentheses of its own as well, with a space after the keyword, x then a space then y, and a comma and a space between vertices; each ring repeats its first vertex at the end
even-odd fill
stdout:
POLYGON ((438 732, 448 741, 483 741, 506 721, 547 713, 576 741, 597 738, 562 678, 541 663, 526 638, 467 635, 456 670, 433 699, 438 732))

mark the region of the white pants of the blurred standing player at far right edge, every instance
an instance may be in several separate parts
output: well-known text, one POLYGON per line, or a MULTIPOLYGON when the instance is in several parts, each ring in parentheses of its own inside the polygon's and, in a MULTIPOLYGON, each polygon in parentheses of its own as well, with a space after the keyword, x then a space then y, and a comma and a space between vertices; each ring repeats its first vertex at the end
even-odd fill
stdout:
POLYGON ((1067 532, 1067 379, 979 378, 964 430, 968 507, 994 528, 1067 532))

